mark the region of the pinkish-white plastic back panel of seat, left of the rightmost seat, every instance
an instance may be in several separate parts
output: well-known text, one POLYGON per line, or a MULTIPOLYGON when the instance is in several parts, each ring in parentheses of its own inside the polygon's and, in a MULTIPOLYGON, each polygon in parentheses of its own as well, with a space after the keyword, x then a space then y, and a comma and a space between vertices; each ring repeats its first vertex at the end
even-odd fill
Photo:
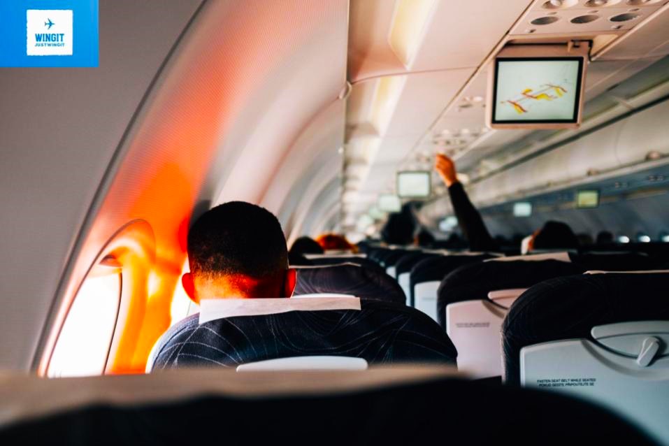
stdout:
POLYGON ((489 292, 487 299, 446 305, 446 333, 458 350, 459 370, 477 378, 502 375, 502 321, 525 291, 503 289, 489 292))

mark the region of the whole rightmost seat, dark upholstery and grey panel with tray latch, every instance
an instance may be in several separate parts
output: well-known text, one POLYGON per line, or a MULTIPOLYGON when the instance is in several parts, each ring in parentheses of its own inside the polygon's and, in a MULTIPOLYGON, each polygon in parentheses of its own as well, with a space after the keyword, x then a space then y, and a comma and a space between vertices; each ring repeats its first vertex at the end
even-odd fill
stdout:
POLYGON ((503 323, 505 381, 587 398, 669 444, 669 273, 542 282, 503 323))

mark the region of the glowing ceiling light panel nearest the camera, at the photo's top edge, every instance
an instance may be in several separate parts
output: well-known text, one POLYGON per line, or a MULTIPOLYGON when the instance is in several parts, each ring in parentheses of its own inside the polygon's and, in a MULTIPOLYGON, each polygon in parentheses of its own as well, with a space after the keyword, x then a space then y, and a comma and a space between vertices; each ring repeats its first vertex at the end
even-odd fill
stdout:
POLYGON ((436 0, 395 1, 388 43, 407 68, 413 64, 436 4, 436 0))

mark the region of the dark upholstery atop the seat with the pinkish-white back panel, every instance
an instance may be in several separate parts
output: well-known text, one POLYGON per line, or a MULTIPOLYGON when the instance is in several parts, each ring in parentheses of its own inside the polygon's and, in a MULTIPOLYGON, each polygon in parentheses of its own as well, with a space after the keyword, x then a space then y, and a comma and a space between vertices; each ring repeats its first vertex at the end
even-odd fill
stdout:
POLYGON ((442 280, 437 291, 437 320, 446 329, 446 305, 482 300, 497 289, 529 288, 542 280, 584 273, 586 268, 557 260, 481 261, 461 266, 442 280))

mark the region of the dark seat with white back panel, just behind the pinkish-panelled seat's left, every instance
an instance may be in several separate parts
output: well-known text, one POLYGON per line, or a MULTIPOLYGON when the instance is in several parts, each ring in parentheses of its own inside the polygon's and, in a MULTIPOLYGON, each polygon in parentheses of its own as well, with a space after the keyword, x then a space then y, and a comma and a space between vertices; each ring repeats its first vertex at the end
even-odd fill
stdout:
POLYGON ((470 255, 456 254, 448 256, 430 257, 419 261, 413 268, 409 275, 409 289, 411 305, 415 308, 420 308, 437 320, 437 295, 436 291, 439 287, 439 282, 446 277, 448 273, 459 266, 476 263, 485 259, 491 259, 494 256, 491 254, 475 253, 470 255), (425 282, 436 282, 421 286, 420 296, 417 296, 417 285, 425 282))

